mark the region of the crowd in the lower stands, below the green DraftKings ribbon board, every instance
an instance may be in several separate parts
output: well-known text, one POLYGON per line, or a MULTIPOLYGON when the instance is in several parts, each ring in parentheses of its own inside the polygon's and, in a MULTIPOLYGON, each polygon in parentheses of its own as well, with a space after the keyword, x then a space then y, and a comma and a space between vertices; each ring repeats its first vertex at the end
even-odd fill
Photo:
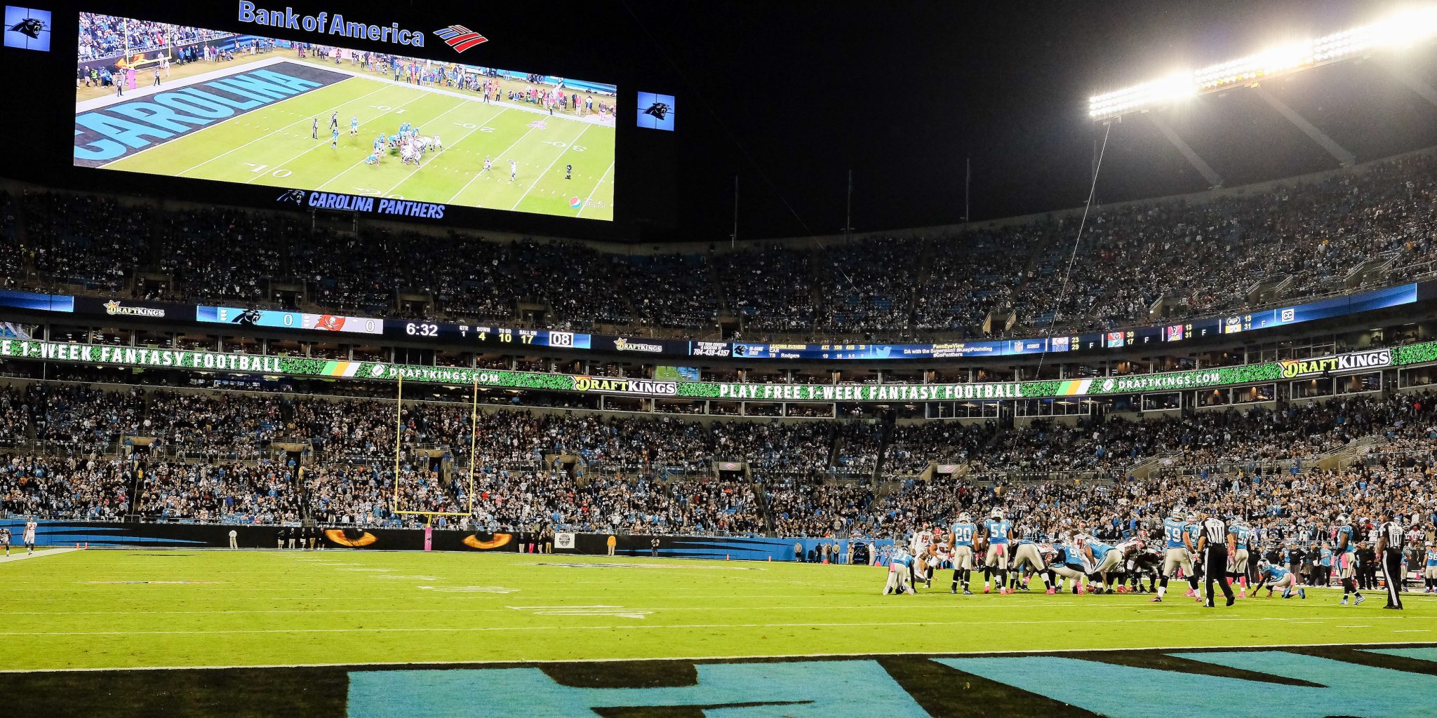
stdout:
POLYGON ((1431 393, 1346 396, 1010 429, 924 422, 894 426, 887 439, 879 422, 703 424, 486 409, 471 497, 470 411, 463 405, 414 402, 397 415, 392 402, 376 399, 147 395, 141 388, 34 382, 0 389, 0 513, 233 523, 313 516, 338 526, 414 526, 418 518, 392 513, 397 495, 410 511, 468 513, 473 505, 461 524, 479 528, 842 537, 912 531, 993 503, 1017 517, 1058 511, 1068 524, 1131 530, 1124 521, 1134 514, 1206 501, 1194 487, 1211 493, 1219 482, 1224 510, 1272 518, 1279 531, 1286 518, 1357 501, 1374 485, 1401 487, 1392 501, 1401 501, 1404 516, 1414 516, 1414 507, 1437 511, 1437 493, 1424 482, 1437 471, 1434 401, 1431 393), (397 419, 404 428, 398 493, 397 419), (122 445, 132 437, 154 442, 122 445), (1364 437, 1374 442, 1372 458, 1357 468, 1319 471, 1315 461, 1290 461, 1315 460, 1364 437), (1158 455, 1197 470, 1125 478, 1125 470, 1158 455), (1288 464, 1275 468, 1272 460, 1288 464), (973 477, 918 477, 930 462, 948 461, 973 477), (875 468, 882 481, 872 481, 875 468), (1083 468, 1106 470, 1098 474, 1117 482, 1066 475, 977 481, 1083 468), (1394 475, 1404 478, 1394 484, 1394 475))

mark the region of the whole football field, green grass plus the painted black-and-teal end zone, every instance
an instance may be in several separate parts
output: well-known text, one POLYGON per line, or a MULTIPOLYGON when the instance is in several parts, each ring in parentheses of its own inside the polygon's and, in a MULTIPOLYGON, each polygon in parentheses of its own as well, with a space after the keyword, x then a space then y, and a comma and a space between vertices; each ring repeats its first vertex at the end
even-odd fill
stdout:
POLYGON ((1378 717, 1430 715, 1371 702, 1382 681, 1437 689, 1421 646, 1437 599, 1420 595, 1403 613, 1326 589, 1232 609, 940 584, 885 597, 868 566, 345 550, 82 550, 0 563, 0 689, 47 717, 1232 718, 1273 711, 1242 691, 1303 685, 1290 701, 1335 711, 1312 715, 1378 717), (1062 653, 1076 649, 1096 652, 1062 653), (994 678, 992 661, 1039 665, 994 678), (1046 661, 1135 672, 1142 698, 1063 696, 1046 661), (1375 673, 1348 689, 1321 675, 1332 665, 1375 673), (1181 684, 1180 711, 1151 708, 1161 681, 1181 684), (1191 696, 1191 681, 1229 694, 1191 696))

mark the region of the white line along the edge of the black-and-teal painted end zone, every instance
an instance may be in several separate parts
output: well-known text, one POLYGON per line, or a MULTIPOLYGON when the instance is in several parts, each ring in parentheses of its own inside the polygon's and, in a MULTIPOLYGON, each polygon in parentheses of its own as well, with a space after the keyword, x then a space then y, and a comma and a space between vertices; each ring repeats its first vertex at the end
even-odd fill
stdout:
MULTIPOLYGON (((634 626, 625 626, 634 628, 634 626)), ((655 626, 639 626, 639 628, 655 628, 655 626)), ((121 672, 121 671, 231 671, 240 668, 352 668, 364 671, 366 668, 389 668, 389 666, 441 666, 441 668, 500 668, 500 666, 526 666, 533 663, 618 663, 618 662, 654 662, 654 661, 696 661, 696 662, 717 662, 717 661, 756 661, 756 659, 810 659, 810 658, 891 658, 891 656, 918 656, 918 658, 974 658, 974 656, 1029 656, 1035 653, 1053 655, 1053 653, 1112 653, 1118 651, 1257 651, 1257 649, 1275 649, 1275 648, 1352 648, 1352 646, 1387 646, 1387 648, 1430 648, 1437 646, 1431 642, 1417 642, 1417 643, 1394 643, 1391 640, 1369 640, 1369 642, 1349 642, 1349 643, 1266 643, 1266 645, 1243 645, 1243 646, 1221 646, 1221 645, 1204 645, 1204 646, 1119 646, 1119 648, 1069 648, 1069 649, 1019 649, 1019 651, 967 651, 967 652, 953 652, 953 651, 905 651, 901 653, 753 653, 753 655, 727 655, 727 656, 651 656, 651 658, 536 658, 529 661, 382 661, 375 663, 233 663, 233 665, 191 665, 191 666, 126 666, 126 668, 0 668, 0 673, 78 673, 78 672, 121 672)))

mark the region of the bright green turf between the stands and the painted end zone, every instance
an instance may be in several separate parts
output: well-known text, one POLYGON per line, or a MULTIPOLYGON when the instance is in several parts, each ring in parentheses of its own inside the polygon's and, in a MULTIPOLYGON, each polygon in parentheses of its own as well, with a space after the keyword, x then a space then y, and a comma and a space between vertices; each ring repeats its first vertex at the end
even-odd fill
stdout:
POLYGON ((0 564, 0 669, 1401 643, 1437 600, 879 596, 882 569, 525 554, 88 550, 0 564), (148 582, 148 583, 147 583, 148 582), (504 593, 500 593, 504 592, 504 593))

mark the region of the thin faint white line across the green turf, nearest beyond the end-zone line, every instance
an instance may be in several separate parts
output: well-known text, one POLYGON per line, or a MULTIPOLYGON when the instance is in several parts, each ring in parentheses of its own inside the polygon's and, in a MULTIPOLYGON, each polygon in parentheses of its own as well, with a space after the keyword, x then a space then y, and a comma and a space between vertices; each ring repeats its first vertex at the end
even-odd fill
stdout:
MULTIPOLYGON (((1322 616, 1336 619, 1338 616, 1322 616)), ((1369 620, 1405 620, 1404 616, 1372 616, 1369 620)), ((1203 616, 1190 619, 1119 619, 1104 620, 1101 623, 1213 623, 1213 622, 1282 622, 1266 616, 1203 616)), ((1049 626, 1083 623, 1094 625, 1092 619, 1061 619, 1061 620, 1004 620, 1003 626, 1049 626)), ((852 623, 668 623, 668 625, 611 625, 611 626, 391 626, 391 628, 322 628, 322 629, 214 629, 214 630, 3 630, 0 636, 247 636, 266 633, 417 633, 417 632, 456 632, 456 633, 487 633, 487 632, 532 632, 532 630, 632 630, 632 629, 783 629, 783 628, 875 628, 875 626, 993 626, 993 620, 882 620, 882 622, 852 622, 852 623)), ((1358 626, 1369 628, 1369 626, 1358 626)))

